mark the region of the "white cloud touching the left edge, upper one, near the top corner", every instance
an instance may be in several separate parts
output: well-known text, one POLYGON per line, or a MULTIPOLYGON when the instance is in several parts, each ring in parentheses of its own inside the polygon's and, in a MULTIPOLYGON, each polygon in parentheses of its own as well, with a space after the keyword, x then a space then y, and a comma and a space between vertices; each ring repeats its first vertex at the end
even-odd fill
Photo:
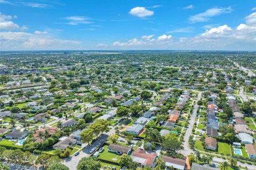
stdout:
POLYGON ((10 21, 11 19, 15 19, 15 18, 17 18, 16 15, 11 16, 11 15, 4 15, 4 14, 0 13, 0 29, 5 29, 5 30, 15 30, 15 29, 26 30, 26 29, 28 29, 25 26, 20 27, 18 24, 10 21))

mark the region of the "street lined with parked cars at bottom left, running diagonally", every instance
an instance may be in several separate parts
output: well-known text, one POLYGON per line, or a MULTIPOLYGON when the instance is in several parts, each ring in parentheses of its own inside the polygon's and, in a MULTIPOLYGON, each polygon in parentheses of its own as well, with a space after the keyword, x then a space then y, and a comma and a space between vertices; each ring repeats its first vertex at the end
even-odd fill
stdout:
POLYGON ((80 154, 78 156, 71 156, 69 158, 66 158, 65 162, 63 162, 62 164, 68 166, 69 169, 76 169, 76 166, 80 159, 82 159, 83 157, 89 157, 90 156, 89 152, 92 148, 96 147, 96 145, 98 143, 101 143, 101 142, 103 143, 103 141, 106 141, 108 139, 108 137, 114 133, 115 133, 115 127, 113 127, 107 133, 100 135, 99 139, 97 141, 93 142, 92 145, 88 146, 87 143, 83 143, 82 147, 84 149, 82 151, 80 151, 80 154))

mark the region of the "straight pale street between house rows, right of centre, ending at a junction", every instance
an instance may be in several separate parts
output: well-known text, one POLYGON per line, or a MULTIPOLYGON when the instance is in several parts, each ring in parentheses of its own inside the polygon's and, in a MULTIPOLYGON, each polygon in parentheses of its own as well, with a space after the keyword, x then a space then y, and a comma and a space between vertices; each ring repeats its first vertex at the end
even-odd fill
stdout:
POLYGON ((199 106, 197 105, 197 101, 201 99, 201 96, 202 96, 202 92, 198 91, 198 96, 195 101, 195 106, 194 106, 193 112, 190 117, 188 129, 184 136, 184 140, 185 140, 185 142, 183 143, 184 150, 182 150, 181 153, 185 154, 185 155, 189 155, 190 153, 193 153, 193 150, 191 150, 188 146, 188 139, 189 139, 189 136, 192 134, 192 129, 193 129, 194 123, 196 121, 196 113, 197 113, 197 109, 199 108, 199 106))

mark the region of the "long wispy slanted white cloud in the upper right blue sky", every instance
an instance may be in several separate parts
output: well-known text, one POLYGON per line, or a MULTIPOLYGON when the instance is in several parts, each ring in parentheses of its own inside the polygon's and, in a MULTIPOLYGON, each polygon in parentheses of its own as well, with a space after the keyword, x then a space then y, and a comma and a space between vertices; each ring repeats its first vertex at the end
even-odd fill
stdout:
POLYGON ((230 13, 232 10, 232 8, 229 7, 213 7, 210 8, 208 10, 206 10, 203 13, 199 13, 196 15, 192 15, 188 18, 188 21, 191 23, 195 23, 195 22, 205 22, 205 21, 209 21, 211 17, 213 16, 218 16, 220 14, 226 14, 226 13, 230 13))

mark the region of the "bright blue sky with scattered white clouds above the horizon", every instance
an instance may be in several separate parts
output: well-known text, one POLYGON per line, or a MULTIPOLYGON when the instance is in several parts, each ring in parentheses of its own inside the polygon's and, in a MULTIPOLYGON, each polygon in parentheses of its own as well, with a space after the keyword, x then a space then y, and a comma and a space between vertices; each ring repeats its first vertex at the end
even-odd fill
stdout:
POLYGON ((0 50, 256 50, 256 1, 0 0, 0 50))

